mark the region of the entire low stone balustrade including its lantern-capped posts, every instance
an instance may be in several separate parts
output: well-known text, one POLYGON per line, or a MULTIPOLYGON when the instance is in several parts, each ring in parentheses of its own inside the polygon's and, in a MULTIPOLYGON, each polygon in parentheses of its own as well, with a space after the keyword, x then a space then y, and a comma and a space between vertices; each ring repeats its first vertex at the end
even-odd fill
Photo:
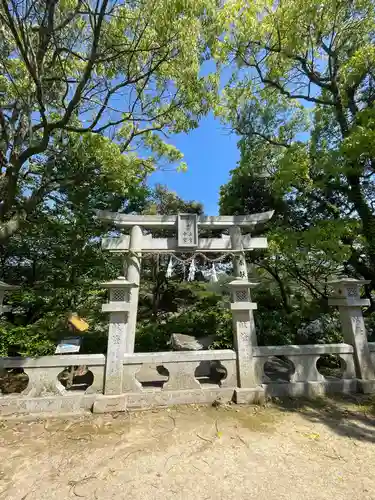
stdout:
POLYGON ((234 350, 133 353, 127 349, 129 297, 137 286, 120 277, 105 283, 110 290, 109 302, 103 305, 110 314, 107 354, 0 358, 0 414, 125 411, 217 399, 254 403, 275 396, 373 393, 375 343, 367 341, 364 328, 361 308, 368 301, 360 298, 362 282, 342 279, 333 284, 331 303, 339 307, 345 343, 258 346, 256 304, 250 295, 255 284, 240 276, 230 283, 234 350), (319 363, 325 356, 336 357, 333 371, 326 374, 319 363), (71 385, 64 385, 67 367, 85 367, 74 377, 71 372, 71 385), (278 368, 281 372, 276 373, 278 368), (11 377, 18 377, 21 389, 8 383, 11 377))

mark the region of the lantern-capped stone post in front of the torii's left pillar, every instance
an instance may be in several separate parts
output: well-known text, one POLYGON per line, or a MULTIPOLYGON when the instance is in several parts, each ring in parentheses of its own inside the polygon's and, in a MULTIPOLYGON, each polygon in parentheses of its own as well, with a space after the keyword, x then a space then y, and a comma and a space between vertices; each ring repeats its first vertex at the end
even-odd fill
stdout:
POLYGON ((103 286, 109 289, 109 303, 102 306, 102 311, 109 313, 104 394, 122 394, 128 315, 133 307, 129 298, 137 285, 120 276, 103 286))

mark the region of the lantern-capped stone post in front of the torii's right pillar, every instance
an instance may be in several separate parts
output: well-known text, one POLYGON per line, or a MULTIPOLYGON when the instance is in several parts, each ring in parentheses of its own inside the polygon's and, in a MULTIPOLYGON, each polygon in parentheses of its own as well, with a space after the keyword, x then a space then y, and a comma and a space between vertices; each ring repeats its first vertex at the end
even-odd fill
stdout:
POLYGON ((237 403, 255 403, 264 398, 264 390, 257 385, 253 347, 257 345, 253 311, 257 308, 251 302, 250 288, 257 283, 236 279, 229 283, 232 292, 230 308, 233 317, 234 347, 237 353, 237 403))

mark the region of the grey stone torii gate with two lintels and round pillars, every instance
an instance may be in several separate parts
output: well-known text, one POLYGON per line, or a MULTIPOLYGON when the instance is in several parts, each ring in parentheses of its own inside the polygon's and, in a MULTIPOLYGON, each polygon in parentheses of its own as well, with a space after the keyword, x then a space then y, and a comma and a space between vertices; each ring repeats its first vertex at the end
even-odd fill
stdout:
POLYGON ((230 283, 232 290, 231 310, 234 344, 237 351, 238 382, 239 388, 252 387, 251 349, 257 345, 257 339, 253 317, 256 304, 251 302, 250 288, 256 286, 256 283, 248 281, 245 252, 267 248, 268 244, 267 238, 252 237, 251 233, 242 234, 242 230, 254 231, 255 228, 268 222, 272 215, 272 211, 235 216, 127 215, 99 211, 97 217, 100 220, 110 222, 119 229, 130 231, 129 235, 103 238, 102 240, 104 250, 129 254, 126 284, 124 284, 126 293, 129 293, 126 339, 124 340, 125 353, 134 353, 142 253, 191 253, 194 255, 211 252, 232 254, 235 279, 230 283), (177 234, 174 238, 154 238, 152 234, 143 235, 142 228, 149 231, 153 229, 174 230, 177 234), (201 229, 229 230, 229 235, 222 234, 220 238, 202 238, 199 236, 201 229))

